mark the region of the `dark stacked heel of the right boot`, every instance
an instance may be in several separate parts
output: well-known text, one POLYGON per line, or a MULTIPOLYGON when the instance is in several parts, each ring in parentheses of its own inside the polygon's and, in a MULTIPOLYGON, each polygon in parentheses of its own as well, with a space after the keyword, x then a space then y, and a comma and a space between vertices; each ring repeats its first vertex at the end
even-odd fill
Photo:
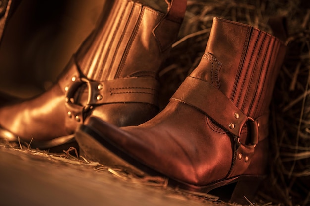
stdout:
POLYGON ((229 202, 241 205, 249 205, 249 201, 253 203, 258 187, 263 179, 263 176, 239 177, 229 202))

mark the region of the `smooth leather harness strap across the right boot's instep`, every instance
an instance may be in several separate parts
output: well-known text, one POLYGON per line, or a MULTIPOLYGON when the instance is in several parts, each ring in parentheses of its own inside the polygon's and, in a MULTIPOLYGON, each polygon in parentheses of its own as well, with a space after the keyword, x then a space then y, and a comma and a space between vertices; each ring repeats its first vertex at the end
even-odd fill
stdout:
POLYGON ((265 132, 268 130, 266 129, 267 125, 264 124, 268 122, 266 120, 268 115, 261 116, 256 120, 247 117, 220 90, 198 78, 187 77, 170 100, 180 101, 199 109, 237 137, 240 137, 242 127, 248 122, 252 136, 251 144, 253 145, 258 143, 258 136, 261 141, 268 135, 265 132))

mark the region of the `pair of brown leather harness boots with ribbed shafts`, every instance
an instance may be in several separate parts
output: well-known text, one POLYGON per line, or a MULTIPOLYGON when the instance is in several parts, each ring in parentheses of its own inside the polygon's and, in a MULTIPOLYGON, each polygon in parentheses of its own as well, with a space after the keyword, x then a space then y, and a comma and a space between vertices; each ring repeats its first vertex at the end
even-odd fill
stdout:
POLYGON ((266 174, 269 104, 285 46, 214 18, 200 64, 156 115, 156 74, 185 8, 185 0, 172 0, 162 14, 116 1, 51 90, 0 109, 2 133, 51 147, 75 132, 93 161, 164 175, 187 190, 237 182, 230 201, 251 201, 266 174))

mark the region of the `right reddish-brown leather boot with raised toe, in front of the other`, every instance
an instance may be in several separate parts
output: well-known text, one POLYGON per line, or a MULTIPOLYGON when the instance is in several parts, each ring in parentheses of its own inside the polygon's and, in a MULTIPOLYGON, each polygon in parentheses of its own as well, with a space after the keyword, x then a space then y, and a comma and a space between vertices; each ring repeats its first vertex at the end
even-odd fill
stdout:
POLYGON ((231 201, 248 203, 265 174, 269 104, 284 56, 274 36, 214 18, 200 64, 166 108, 138 126, 89 118, 76 132, 80 152, 188 190, 238 182, 231 201))

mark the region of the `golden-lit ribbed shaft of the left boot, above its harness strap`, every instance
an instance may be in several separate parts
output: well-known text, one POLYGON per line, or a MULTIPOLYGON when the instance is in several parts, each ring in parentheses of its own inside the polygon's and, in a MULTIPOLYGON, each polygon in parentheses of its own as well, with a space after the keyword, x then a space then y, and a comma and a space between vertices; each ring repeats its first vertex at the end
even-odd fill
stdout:
POLYGON ((79 52, 82 72, 99 81, 156 76, 184 16, 186 0, 175 4, 168 3, 164 14, 134 1, 116 0, 92 43, 79 52), (182 9, 176 11, 177 7, 182 9))

